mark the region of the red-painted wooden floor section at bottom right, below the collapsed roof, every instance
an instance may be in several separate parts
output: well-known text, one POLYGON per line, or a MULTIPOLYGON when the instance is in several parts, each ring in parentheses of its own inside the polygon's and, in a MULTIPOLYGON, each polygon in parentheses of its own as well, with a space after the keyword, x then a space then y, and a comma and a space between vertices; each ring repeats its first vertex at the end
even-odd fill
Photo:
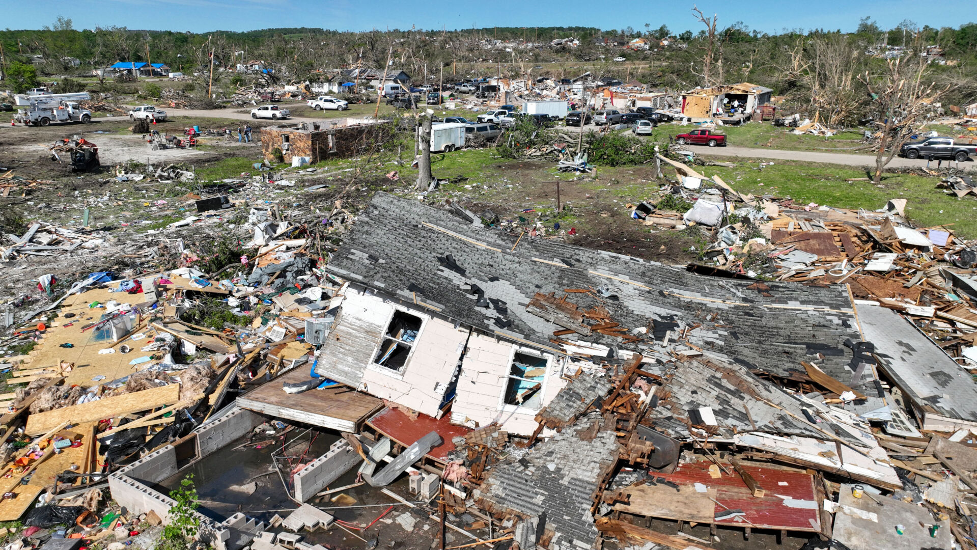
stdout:
MULTIPOLYGON (((744 466, 743 468, 763 487, 763 496, 753 496, 749 487, 743 483, 743 478, 737 475, 730 465, 724 465, 730 474, 720 470, 721 477, 712 479, 709 476, 710 462, 693 462, 682 464, 672 474, 657 474, 678 485, 695 485, 700 483, 717 490, 716 500, 732 510, 743 510, 746 520, 758 528, 787 529, 787 530, 821 530, 821 518, 818 502, 814 490, 814 477, 800 472, 789 472, 775 468, 758 468, 744 466), (781 485, 786 484, 786 485, 781 485), (786 498, 782 498, 786 497, 786 498), (792 499, 792 500, 791 500, 792 499), (803 506, 815 506, 805 508, 803 506), (814 524, 811 524, 811 520, 814 524)), ((668 488, 667 486, 658 486, 668 488)), ((674 490, 674 489, 671 489, 674 490)), ((726 510, 719 504, 715 505, 715 513, 726 510)), ((749 524, 735 520, 717 521, 717 525, 746 527, 749 524)))

